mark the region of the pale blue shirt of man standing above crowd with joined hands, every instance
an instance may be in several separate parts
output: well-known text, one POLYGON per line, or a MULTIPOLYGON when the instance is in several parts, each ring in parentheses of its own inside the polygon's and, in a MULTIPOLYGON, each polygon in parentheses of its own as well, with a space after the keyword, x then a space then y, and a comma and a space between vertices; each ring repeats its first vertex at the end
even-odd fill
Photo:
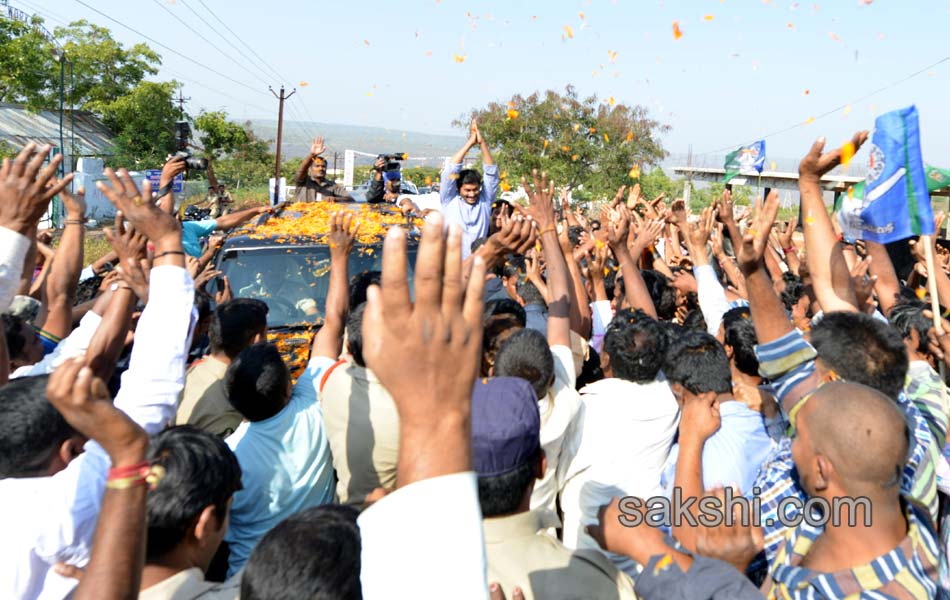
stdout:
POLYGON ((442 169, 442 185, 439 188, 439 201, 442 204, 442 217, 445 226, 456 223, 462 228, 462 260, 472 253, 472 242, 488 235, 491 224, 491 205, 498 194, 498 165, 485 165, 485 176, 478 202, 469 204, 458 194, 456 180, 462 170, 462 164, 446 162, 442 169))

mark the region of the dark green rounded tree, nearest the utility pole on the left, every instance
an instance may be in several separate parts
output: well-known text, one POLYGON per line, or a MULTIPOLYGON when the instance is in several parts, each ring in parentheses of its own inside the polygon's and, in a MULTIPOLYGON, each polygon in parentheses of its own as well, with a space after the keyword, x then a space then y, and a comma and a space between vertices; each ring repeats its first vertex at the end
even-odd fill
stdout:
POLYGON ((177 84, 142 81, 132 91, 102 105, 102 120, 116 133, 109 163, 128 169, 156 169, 175 151, 177 84))

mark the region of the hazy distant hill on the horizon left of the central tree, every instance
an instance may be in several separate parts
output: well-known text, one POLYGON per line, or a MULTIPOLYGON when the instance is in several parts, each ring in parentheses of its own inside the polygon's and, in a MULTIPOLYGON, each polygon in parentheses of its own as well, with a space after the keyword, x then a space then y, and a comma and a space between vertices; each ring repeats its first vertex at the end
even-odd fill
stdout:
MULTIPOLYGON (((273 150, 277 144, 277 123, 270 120, 252 120, 250 123, 255 135, 271 141, 271 150, 273 150)), ((441 164, 438 157, 451 156, 465 142, 461 133, 458 136, 432 135, 382 127, 284 121, 282 154, 286 157, 306 155, 313 141, 311 136, 317 134, 326 138, 327 153, 331 161, 334 152, 340 153, 341 166, 343 151, 347 149, 370 154, 406 152, 410 157, 435 159, 425 162, 410 161, 411 166, 420 164, 437 166, 441 164)), ((372 158, 357 156, 357 164, 369 162, 372 162, 372 158)))

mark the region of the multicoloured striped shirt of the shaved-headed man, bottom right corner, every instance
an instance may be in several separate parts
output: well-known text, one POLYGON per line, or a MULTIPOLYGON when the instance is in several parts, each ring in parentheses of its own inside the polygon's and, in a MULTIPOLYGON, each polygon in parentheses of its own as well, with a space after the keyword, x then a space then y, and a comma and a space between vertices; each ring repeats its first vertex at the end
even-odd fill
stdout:
POLYGON ((788 532, 772 568, 767 598, 934 598, 939 550, 927 511, 908 503, 907 537, 887 554, 851 569, 821 573, 801 567, 824 530, 805 523, 788 532))

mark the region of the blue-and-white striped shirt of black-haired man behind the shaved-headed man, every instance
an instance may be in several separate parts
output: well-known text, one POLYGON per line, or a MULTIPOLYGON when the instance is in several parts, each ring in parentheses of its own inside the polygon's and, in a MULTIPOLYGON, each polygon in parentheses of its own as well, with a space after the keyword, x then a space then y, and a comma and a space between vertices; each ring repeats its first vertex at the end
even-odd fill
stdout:
MULTIPOLYGON (((808 394, 814 392, 819 385, 815 369, 818 353, 797 330, 767 344, 756 346, 756 355, 759 358, 759 371, 771 381, 780 406, 793 392, 798 396, 795 408, 801 406, 808 394)), ((907 392, 913 393, 914 396, 902 393, 897 403, 904 411, 914 439, 901 478, 901 493, 927 507, 932 522, 936 522, 936 461, 940 458, 939 451, 943 448, 943 443, 935 443, 939 440, 934 440, 931 434, 931 423, 939 424, 942 420, 943 431, 946 432, 947 417, 945 413, 932 414, 940 406, 939 402, 931 398, 932 387, 911 385, 909 380, 907 392)), ((761 523, 765 533, 765 558, 769 564, 773 564, 786 533, 786 527, 779 520, 779 507, 781 506, 786 518, 794 518, 801 513, 798 507, 803 506, 808 499, 798 482, 798 471, 792 460, 791 439, 783 439, 762 466, 753 487, 753 492, 756 491, 762 503, 761 523), (799 502, 790 505, 788 499, 793 497, 799 502)))

